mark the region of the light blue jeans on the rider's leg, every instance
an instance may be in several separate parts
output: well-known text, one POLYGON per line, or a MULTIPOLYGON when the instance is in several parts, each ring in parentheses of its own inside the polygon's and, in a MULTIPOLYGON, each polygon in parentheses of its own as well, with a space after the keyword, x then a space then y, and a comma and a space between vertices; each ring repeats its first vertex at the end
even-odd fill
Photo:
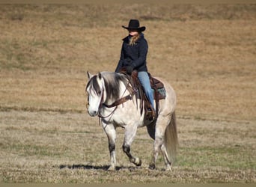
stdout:
POLYGON ((150 79, 147 72, 145 71, 138 72, 138 80, 139 82, 141 82, 141 85, 144 88, 144 91, 146 93, 147 99, 150 101, 150 104, 154 109, 153 90, 151 89, 150 79))

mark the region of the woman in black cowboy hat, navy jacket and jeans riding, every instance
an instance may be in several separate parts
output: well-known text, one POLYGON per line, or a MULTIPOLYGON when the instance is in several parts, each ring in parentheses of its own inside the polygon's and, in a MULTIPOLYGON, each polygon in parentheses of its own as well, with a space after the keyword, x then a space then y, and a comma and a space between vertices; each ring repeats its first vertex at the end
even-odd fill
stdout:
POLYGON ((150 86, 150 79, 147 73, 147 40, 144 39, 144 26, 139 26, 138 19, 130 19, 128 27, 126 28, 129 35, 123 39, 123 45, 121 49, 121 56, 118 62, 118 67, 115 72, 119 72, 122 67, 126 67, 127 73, 131 75, 132 70, 138 71, 138 80, 144 88, 147 99, 149 99, 151 108, 148 108, 147 115, 154 117, 154 102, 153 102, 153 91, 150 86))

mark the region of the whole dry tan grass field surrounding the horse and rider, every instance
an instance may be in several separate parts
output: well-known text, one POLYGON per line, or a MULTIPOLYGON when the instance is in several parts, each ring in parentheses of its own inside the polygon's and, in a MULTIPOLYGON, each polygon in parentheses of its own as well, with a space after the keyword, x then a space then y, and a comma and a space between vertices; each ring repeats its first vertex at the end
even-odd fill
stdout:
POLYGON ((256 183, 255 4, 0 4, 0 183, 256 183), (150 171, 153 141, 106 171, 109 150, 85 109, 86 71, 113 71, 129 19, 147 65, 177 93, 180 150, 150 171))

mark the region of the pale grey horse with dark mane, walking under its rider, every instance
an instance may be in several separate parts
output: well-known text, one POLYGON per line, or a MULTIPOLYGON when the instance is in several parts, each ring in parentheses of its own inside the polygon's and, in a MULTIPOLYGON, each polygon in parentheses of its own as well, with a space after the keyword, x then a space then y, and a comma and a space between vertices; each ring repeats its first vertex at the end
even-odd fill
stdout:
MULTIPOLYGON (((131 91, 131 82, 123 73, 100 72, 95 75, 88 73, 88 83, 85 92, 88 96, 87 109, 91 117, 100 117, 101 125, 109 140, 110 164, 109 170, 116 169, 115 141, 116 128, 124 128, 124 143, 122 149, 127 154, 129 162, 141 166, 141 159, 132 156, 130 146, 138 128, 146 126, 150 138, 153 138, 153 154, 149 164, 150 169, 156 169, 156 159, 159 151, 165 161, 165 171, 171 171, 171 165, 177 153, 177 124, 175 117, 176 94, 171 85, 159 79, 165 85, 166 97, 159 100, 159 113, 155 120, 145 117, 145 111, 140 110, 141 100, 131 91)), ((144 102, 142 102, 144 105, 144 102)))

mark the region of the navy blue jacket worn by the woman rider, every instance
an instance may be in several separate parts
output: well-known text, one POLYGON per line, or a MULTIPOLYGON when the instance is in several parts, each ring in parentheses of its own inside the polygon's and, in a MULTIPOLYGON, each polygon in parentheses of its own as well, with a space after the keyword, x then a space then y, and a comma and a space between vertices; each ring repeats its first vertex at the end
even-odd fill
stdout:
POLYGON ((147 40, 144 39, 144 34, 141 33, 136 43, 129 45, 127 36, 123 39, 120 60, 115 72, 121 70, 122 67, 132 66, 133 70, 147 71, 147 40))

